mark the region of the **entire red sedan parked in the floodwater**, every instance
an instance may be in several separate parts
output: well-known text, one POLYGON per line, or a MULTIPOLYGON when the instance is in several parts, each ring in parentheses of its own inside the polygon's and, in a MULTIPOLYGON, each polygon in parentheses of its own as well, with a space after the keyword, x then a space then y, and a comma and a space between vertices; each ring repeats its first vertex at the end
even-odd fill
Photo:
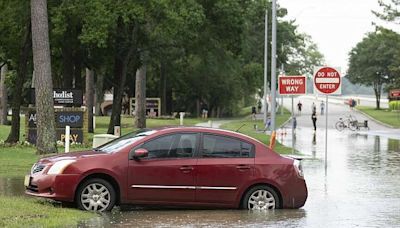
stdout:
POLYGON ((307 199, 300 161, 240 133, 197 127, 140 131, 42 158, 25 186, 28 195, 89 211, 121 204, 266 210, 307 199))

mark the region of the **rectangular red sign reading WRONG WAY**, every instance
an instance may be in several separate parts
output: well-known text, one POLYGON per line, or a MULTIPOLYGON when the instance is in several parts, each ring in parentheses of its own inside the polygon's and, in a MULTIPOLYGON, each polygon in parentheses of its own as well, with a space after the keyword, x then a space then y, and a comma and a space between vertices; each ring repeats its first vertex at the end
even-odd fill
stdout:
POLYGON ((299 95, 306 94, 306 76, 279 76, 279 94, 299 95))

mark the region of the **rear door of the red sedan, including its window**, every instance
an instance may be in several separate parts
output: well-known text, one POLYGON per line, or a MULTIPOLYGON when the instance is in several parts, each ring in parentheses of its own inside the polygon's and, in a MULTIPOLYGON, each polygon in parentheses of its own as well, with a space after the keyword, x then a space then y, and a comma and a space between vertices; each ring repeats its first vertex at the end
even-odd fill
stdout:
POLYGON ((197 202, 233 205, 253 176, 254 146, 233 137, 203 134, 196 170, 197 202))

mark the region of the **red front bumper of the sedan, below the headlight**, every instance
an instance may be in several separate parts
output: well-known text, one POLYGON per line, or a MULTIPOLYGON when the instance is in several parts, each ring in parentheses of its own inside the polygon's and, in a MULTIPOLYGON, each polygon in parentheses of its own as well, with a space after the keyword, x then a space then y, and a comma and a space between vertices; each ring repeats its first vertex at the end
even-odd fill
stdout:
POLYGON ((25 193, 59 201, 74 201, 79 175, 31 175, 25 181, 25 193))

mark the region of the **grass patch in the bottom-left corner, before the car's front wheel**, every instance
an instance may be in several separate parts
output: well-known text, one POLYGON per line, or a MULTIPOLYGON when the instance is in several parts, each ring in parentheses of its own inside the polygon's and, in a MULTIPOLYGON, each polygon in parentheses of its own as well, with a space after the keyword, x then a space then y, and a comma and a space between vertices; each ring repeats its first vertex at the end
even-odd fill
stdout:
POLYGON ((0 195, 0 227, 71 227, 96 214, 47 200, 0 195))

